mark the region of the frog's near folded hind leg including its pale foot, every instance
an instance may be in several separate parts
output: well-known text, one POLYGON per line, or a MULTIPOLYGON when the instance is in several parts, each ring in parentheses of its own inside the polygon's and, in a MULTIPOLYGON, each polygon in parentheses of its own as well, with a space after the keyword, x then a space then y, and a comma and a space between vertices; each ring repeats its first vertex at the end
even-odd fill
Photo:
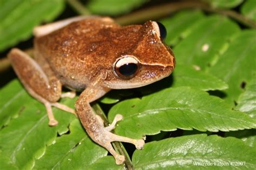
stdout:
POLYGON ((51 106, 75 114, 75 110, 72 108, 57 103, 62 95, 62 85, 54 74, 46 75, 41 66, 21 50, 12 49, 8 57, 25 89, 45 105, 50 126, 58 124, 53 117, 51 106))

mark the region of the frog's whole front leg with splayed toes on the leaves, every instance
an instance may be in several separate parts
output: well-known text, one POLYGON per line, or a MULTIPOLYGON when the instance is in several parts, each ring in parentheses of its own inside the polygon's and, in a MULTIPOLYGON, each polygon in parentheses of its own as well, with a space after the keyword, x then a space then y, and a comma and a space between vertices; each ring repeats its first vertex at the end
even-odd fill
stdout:
POLYGON ((97 117, 97 115, 93 112, 90 103, 102 97, 107 91, 109 90, 100 87, 87 87, 87 89, 80 94, 78 100, 76 101, 76 111, 87 134, 89 134, 92 140, 97 142, 97 144, 105 147, 116 159, 116 164, 120 165, 123 164, 125 158, 123 155, 119 155, 116 151, 114 151, 111 145, 112 141, 129 142, 135 145, 137 149, 142 149, 145 142, 143 139, 137 140, 126 138, 110 132, 113 130, 116 122, 123 118, 120 114, 116 115, 113 123, 110 126, 104 127, 102 120, 100 120, 100 118, 97 117))

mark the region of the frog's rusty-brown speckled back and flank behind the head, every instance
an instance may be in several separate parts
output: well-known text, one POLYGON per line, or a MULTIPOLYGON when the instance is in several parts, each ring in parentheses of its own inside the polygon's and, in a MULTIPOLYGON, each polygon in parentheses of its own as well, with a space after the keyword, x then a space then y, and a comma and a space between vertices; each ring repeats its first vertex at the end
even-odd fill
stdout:
POLYGON ((127 37, 131 33, 125 33, 131 31, 120 32, 120 28, 112 19, 87 18, 35 38, 35 51, 49 63, 63 85, 83 90, 91 83, 93 74, 101 70, 99 67, 107 67, 136 44, 139 28, 133 29, 130 39, 127 37))

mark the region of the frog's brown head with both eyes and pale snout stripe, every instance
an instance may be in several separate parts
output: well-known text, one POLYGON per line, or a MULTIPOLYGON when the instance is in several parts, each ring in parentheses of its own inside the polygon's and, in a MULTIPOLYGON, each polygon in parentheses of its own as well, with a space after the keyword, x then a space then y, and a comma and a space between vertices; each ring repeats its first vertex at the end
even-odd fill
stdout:
MULTIPOLYGON (((137 27, 138 28, 138 27, 137 27)), ((123 52, 112 65, 105 85, 111 89, 141 87, 170 76, 175 61, 172 50, 164 44, 166 29, 158 22, 139 26, 137 43, 123 52)))

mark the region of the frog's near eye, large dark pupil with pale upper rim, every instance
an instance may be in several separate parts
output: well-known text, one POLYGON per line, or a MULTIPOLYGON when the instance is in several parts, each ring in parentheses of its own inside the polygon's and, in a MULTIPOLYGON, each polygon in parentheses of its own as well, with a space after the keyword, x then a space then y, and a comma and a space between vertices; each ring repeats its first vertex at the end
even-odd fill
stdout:
POLYGON ((139 69, 138 61, 133 57, 124 57, 117 60, 114 65, 114 71, 117 76, 122 79, 131 79, 133 78, 139 69))

